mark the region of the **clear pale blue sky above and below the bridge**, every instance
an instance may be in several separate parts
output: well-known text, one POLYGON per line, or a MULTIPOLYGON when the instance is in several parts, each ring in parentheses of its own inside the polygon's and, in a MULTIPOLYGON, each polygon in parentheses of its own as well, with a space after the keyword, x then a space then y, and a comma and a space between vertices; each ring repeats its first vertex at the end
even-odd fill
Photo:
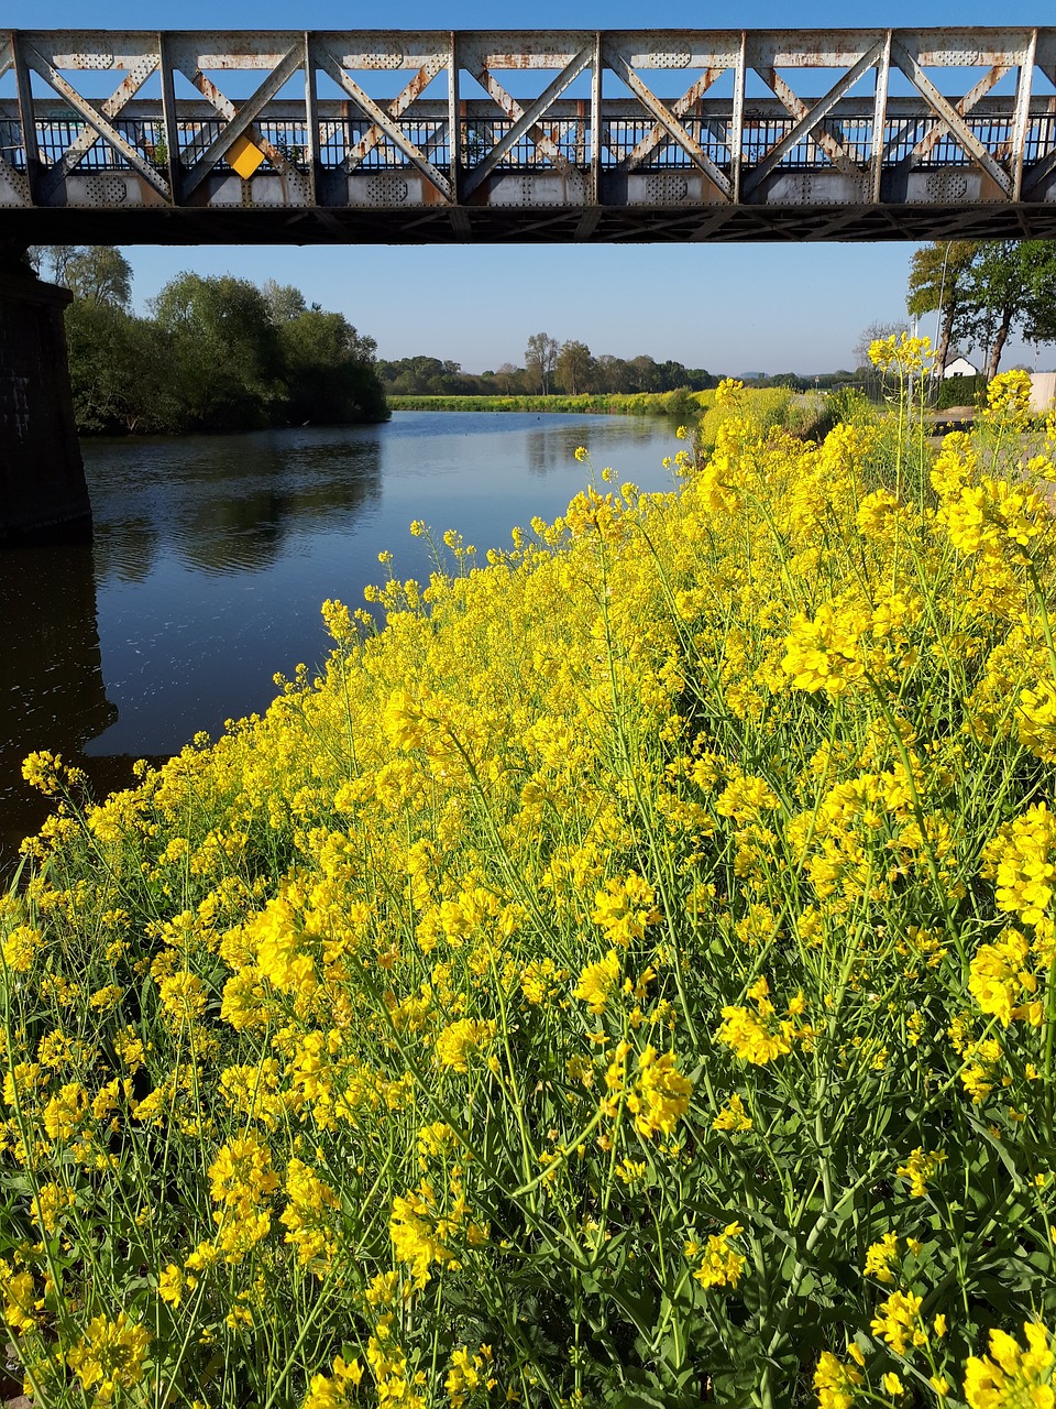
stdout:
MULTIPOLYGON (((8 0, 11 28, 774 28, 796 25, 993 25, 1052 23, 1048 4, 1005 0, 389 0, 339 6, 307 0, 183 0, 176 11, 132 0, 8 0)), ((127 248, 137 302, 182 269, 297 285, 310 302, 345 313, 386 358, 427 352, 469 371, 521 362, 532 333, 580 338, 596 354, 658 359, 718 372, 815 372, 850 365, 859 333, 904 316, 911 244, 804 245, 456 245, 456 247, 194 247, 127 248)), ((925 320, 921 331, 934 333, 925 320)), ((1033 365, 1033 349, 1011 347, 1004 365, 1033 365)), ((1039 366, 1056 365, 1042 348, 1039 366)))

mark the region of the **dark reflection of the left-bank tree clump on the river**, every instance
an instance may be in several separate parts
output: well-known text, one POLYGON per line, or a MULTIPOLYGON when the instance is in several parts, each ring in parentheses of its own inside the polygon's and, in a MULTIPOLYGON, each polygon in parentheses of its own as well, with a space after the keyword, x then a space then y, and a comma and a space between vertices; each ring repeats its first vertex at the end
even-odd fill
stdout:
POLYGON ((120 581, 145 576, 159 551, 203 572, 266 568, 291 534, 332 531, 382 492, 369 428, 93 449, 100 568, 120 581))

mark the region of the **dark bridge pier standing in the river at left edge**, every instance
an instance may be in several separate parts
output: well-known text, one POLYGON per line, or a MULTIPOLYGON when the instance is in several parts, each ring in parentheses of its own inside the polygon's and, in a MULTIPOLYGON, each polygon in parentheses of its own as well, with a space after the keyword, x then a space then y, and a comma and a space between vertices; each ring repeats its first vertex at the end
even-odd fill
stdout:
POLYGON ((0 547, 92 538, 62 323, 70 297, 0 265, 0 547))

